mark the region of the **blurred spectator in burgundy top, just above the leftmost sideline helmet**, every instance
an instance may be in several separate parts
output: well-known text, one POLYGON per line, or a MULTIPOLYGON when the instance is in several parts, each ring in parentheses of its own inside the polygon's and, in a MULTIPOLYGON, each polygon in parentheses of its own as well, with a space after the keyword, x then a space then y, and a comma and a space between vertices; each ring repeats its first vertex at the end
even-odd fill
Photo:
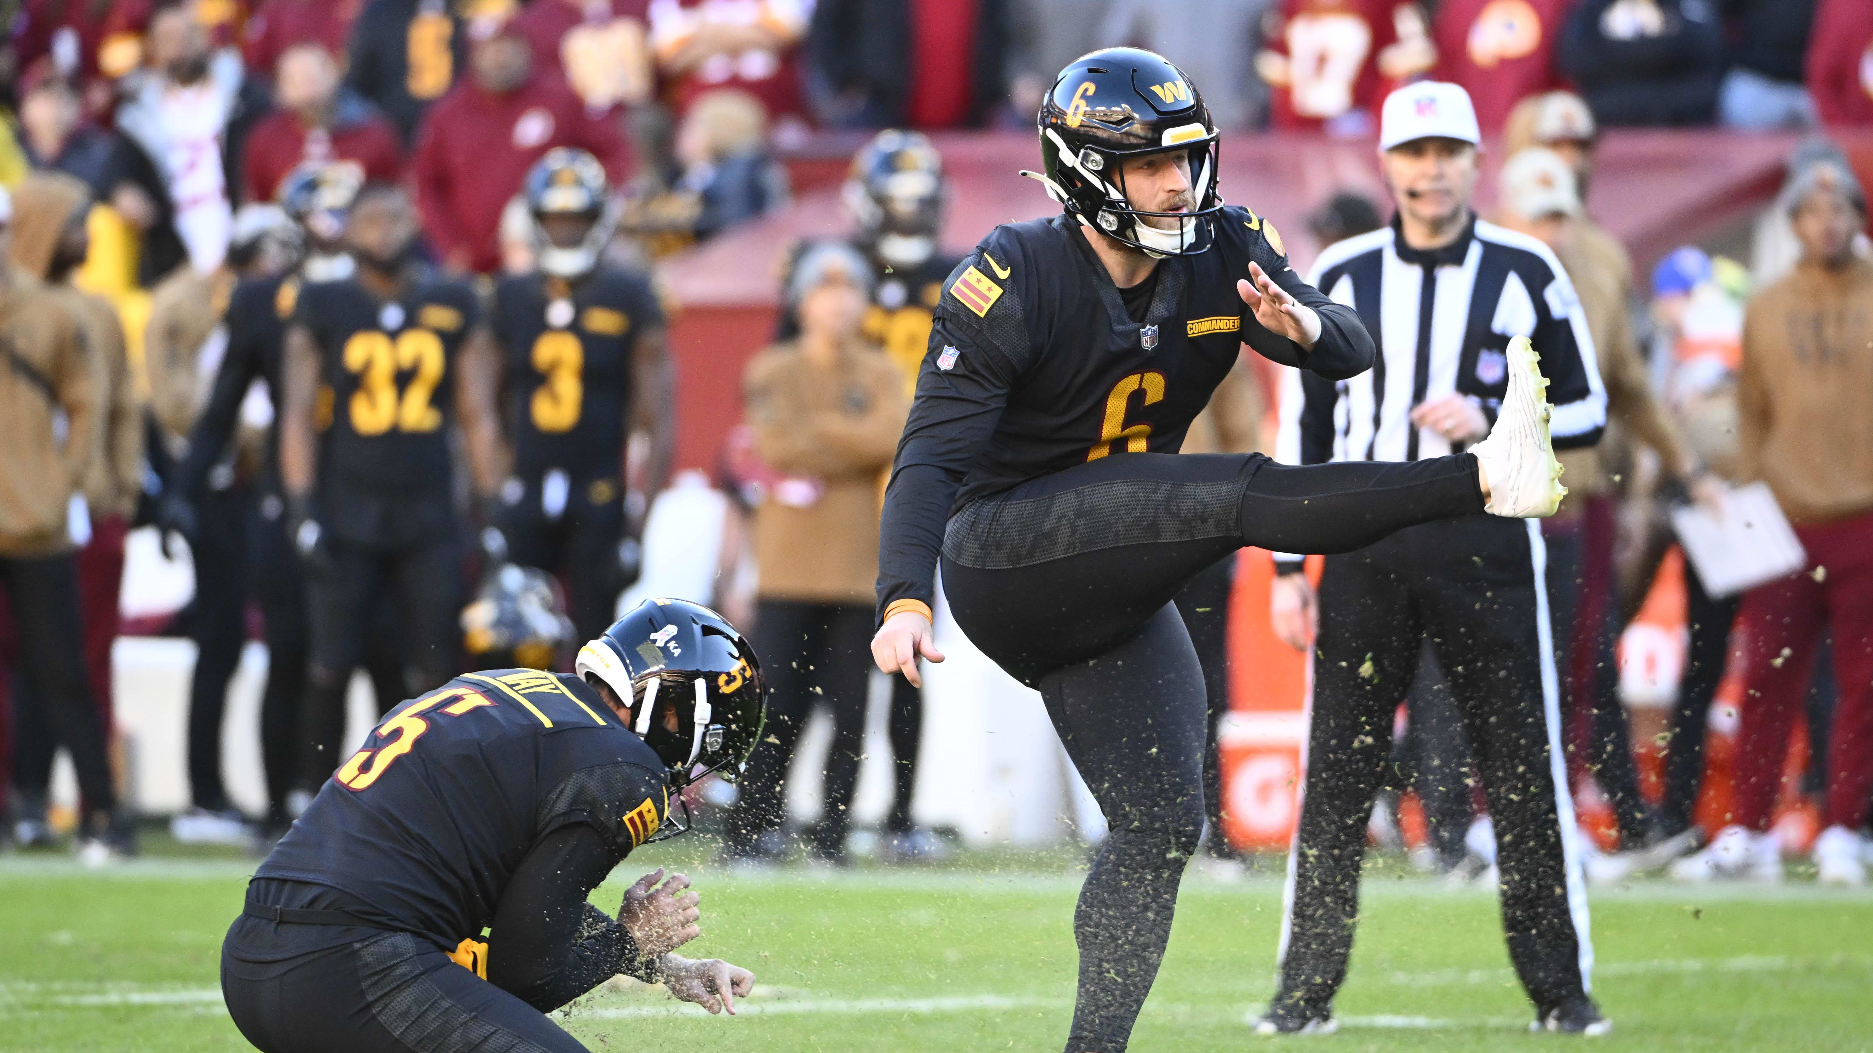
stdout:
POLYGON ((363 182, 397 182, 403 142, 371 103, 339 86, 339 67, 317 41, 290 45, 273 75, 279 109, 247 135, 242 200, 273 200, 305 161, 352 161, 363 182))

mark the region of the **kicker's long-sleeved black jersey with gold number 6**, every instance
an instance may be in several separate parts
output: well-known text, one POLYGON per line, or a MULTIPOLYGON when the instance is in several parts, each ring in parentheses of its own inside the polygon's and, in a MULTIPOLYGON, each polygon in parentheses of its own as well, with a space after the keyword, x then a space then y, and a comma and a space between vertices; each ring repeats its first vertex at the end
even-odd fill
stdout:
POLYGON ((1158 264, 1131 320, 1075 221, 996 227, 944 285, 884 500, 878 611, 931 601, 948 517, 980 497, 1099 457, 1176 453, 1246 343, 1330 378, 1373 362, 1373 339, 1289 266, 1255 212, 1216 217, 1216 247, 1158 264), (1255 320, 1249 262, 1320 315, 1313 349, 1255 320))

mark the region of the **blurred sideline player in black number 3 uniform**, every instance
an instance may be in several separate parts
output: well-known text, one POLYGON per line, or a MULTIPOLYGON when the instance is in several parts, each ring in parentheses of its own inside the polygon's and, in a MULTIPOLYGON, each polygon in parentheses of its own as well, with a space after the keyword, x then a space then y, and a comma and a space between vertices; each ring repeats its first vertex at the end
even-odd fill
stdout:
MULTIPOLYGON (((538 270, 500 279, 489 326, 513 465, 483 545, 562 575, 579 633, 597 635, 639 575, 644 512, 669 480, 674 375, 650 281, 601 262, 616 227, 605 169, 584 150, 541 157, 523 185, 538 270), (626 500, 626 444, 648 433, 642 493, 626 500)), ((478 384, 479 386, 479 384, 478 384)))

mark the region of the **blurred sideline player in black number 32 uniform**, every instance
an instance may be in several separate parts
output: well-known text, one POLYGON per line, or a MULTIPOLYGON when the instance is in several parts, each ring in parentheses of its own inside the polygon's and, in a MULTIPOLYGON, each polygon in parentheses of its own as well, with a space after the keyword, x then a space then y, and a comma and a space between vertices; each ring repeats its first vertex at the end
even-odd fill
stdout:
POLYGON ((380 603, 395 596, 406 618, 420 688, 459 669, 451 423, 474 493, 493 497, 498 480, 493 367, 474 363, 493 343, 474 292, 412 259, 416 214, 401 187, 361 187, 345 242, 356 272, 302 287, 285 337, 281 482, 311 601, 296 793, 337 764, 345 688, 380 603))

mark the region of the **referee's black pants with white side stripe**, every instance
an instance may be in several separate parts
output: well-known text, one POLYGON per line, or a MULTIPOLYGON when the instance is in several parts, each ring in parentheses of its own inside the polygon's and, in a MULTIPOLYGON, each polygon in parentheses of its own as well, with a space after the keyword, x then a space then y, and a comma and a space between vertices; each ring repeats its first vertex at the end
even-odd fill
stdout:
POLYGON ((1592 942, 1558 746, 1543 564, 1536 521, 1489 515, 1328 556, 1277 1001, 1324 1014, 1347 976, 1365 823, 1422 639, 1437 652, 1483 778, 1502 927, 1523 987, 1541 1014, 1586 993, 1592 942))

